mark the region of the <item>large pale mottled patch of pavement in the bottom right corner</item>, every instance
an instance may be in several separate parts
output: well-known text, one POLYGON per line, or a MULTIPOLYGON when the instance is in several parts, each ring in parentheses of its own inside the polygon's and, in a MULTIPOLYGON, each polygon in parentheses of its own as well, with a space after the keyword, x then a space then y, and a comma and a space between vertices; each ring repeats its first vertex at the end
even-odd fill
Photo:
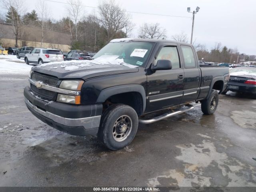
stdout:
POLYGON ((183 162, 183 168, 150 178, 148 186, 255 186, 256 170, 253 166, 243 164, 225 152, 218 152, 211 137, 199 136, 204 138, 201 144, 176 146, 181 150, 176 159, 183 162))

